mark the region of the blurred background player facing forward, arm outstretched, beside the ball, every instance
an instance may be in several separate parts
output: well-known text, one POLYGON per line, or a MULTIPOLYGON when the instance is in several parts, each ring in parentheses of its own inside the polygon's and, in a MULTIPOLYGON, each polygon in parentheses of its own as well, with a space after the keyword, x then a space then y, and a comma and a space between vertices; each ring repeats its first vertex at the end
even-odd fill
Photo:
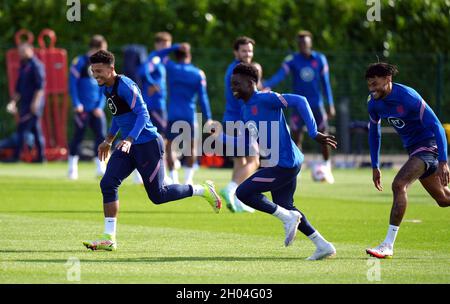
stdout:
MULTIPOLYGON (((263 84, 266 88, 273 88, 287 75, 292 74, 293 93, 306 97, 313 111, 318 130, 326 133, 328 132, 328 116, 333 118, 336 115, 328 62, 324 54, 313 51, 312 34, 310 32, 299 31, 297 44, 299 52, 287 56, 278 72, 263 84), (328 101, 328 115, 324 109, 322 91, 328 101)), ((304 126, 305 122, 294 109, 290 119, 290 127, 294 141, 300 149, 302 148, 304 126)), ((331 173, 330 148, 326 145, 322 145, 322 156, 327 169, 325 180, 332 184, 334 183, 334 177, 331 173)))

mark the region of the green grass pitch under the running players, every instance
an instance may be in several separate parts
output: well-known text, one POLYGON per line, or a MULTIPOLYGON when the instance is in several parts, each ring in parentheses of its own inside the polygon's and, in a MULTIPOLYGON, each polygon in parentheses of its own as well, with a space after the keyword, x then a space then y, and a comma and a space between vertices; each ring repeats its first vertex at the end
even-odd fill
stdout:
MULTIPOLYGON (((214 214, 200 198, 157 206, 130 179, 119 193, 118 251, 88 251, 81 241, 103 231, 94 164, 80 164, 76 182, 65 163, 3 164, 0 283, 450 283, 449 209, 414 184, 394 258, 375 261, 364 249, 384 239, 395 171, 383 171, 384 192, 370 170, 334 173, 334 185, 313 183, 308 170, 298 179, 296 206, 337 249, 334 259, 310 262, 312 243, 299 233, 283 247, 272 216, 214 214), (69 259, 80 262, 79 281, 68 276, 69 259)), ((230 174, 202 168, 195 180, 220 188, 230 174)))

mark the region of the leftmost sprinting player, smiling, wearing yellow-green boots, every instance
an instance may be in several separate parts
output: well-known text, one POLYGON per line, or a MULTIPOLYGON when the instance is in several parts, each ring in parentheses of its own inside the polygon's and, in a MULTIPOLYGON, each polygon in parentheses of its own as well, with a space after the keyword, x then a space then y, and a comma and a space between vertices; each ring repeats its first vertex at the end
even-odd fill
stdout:
POLYGON ((121 140, 114 149, 106 167, 100 187, 105 215, 104 235, 83 244, 92 250, 116 249, 116 221, 119 211, 118 188, 134 169, 144 180, 145 190, 155 204, 163 204, 193 195, 204 197, 219 212, 221 201, 212 182, 203 185, 164 184, 164 146, 161 136, 153 126, 147 107, 137 85, 114 69, 114 55, 99 51, 90 57, 92 72, 102 92, 107 97, 113 115, 106 139, 98 147, 100 160, 105 160, 114 138, 120 131, 121 140))

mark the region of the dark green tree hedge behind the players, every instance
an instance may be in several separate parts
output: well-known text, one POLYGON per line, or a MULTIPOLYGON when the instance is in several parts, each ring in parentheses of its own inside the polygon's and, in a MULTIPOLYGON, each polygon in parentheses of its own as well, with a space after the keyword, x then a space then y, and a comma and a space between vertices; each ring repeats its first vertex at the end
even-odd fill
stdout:
MULTIPOLYGON (((150 51, 153 34, 169 31, 175 42, 187 41, 193 62, 208 79, 215 119, 224 109, 223 76, 233 60, 232 43, 240 35, 255 39, 255 61, 271 76, 283 58, 296 51, 295 35, 306 29, 314 48, 329 61, 338 117, 367 120, 366 66, 377 58, 397 64, 396 81, 414 87, 442 121, 450 120, 450 0, 381 0, 381 21, 367 20, 375 1, 366 0, 81 0, 81 21, 69 22, 64 0, 0 0, 0 136, 14 130, 5 111, 9 100, 5 53, 21 28, 35 36, 53 29, 57 47, 71 59, 87 50, 93 34, 102 34, 121 68, 122 46, 143 44, 150 51), (367 4, 369 2, 369 4, 367 4)), ((290 80, 275 88, 289 92, 290 80)), ((348 121, 347 121, 348 123, 348 121)), ((69 122, 69 138, 71 137, 69 122)), ((338 134, 339 135, 339 134, 338 134)), ((394 150, 400 148, 388 144, 394 150)), ((385 148, 386 148, 385 147, 385 148)))

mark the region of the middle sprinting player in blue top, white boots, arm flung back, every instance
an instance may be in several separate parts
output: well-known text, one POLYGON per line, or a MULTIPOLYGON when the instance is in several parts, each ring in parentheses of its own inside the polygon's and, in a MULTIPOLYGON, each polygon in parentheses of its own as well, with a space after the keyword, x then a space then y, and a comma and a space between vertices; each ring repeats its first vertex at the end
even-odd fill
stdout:
MULTIPOLYGON (((291 139, 283 109, 288 106, 296 107, 306 122, 309 135, 320 144, 336 148, 336 141, 333 136, 317 131, 316 122, 306 98, 293 94, 259 92, 256 89, 257 82, 258 71, 254 65, 240 63, 234 68, 231 88, 236 98, 244 101, 241 119, 246 125, 252 125, 256 130, 259 149, 272 151, 271 159, 267 167, 258 170, 239 185, 236 195, 246 205, 272 214, 283 222, 286 233, 285 246, 292 244, 298 229, 317 247, 315 253, 308 258, 309 260, 333 256, 336 253, 334 246, 326 241, 311 226, 305 215, 294 206, 294 192, 303 154, 291 139), (263 125, 268 128, 262 129, 263 125), (267 147, 261 145, 262 141, 268 143, 267 147), (262 194, 269 191, 273 202, 262 194)), ((252 132, 255 131, 250 131, 252 132)))

